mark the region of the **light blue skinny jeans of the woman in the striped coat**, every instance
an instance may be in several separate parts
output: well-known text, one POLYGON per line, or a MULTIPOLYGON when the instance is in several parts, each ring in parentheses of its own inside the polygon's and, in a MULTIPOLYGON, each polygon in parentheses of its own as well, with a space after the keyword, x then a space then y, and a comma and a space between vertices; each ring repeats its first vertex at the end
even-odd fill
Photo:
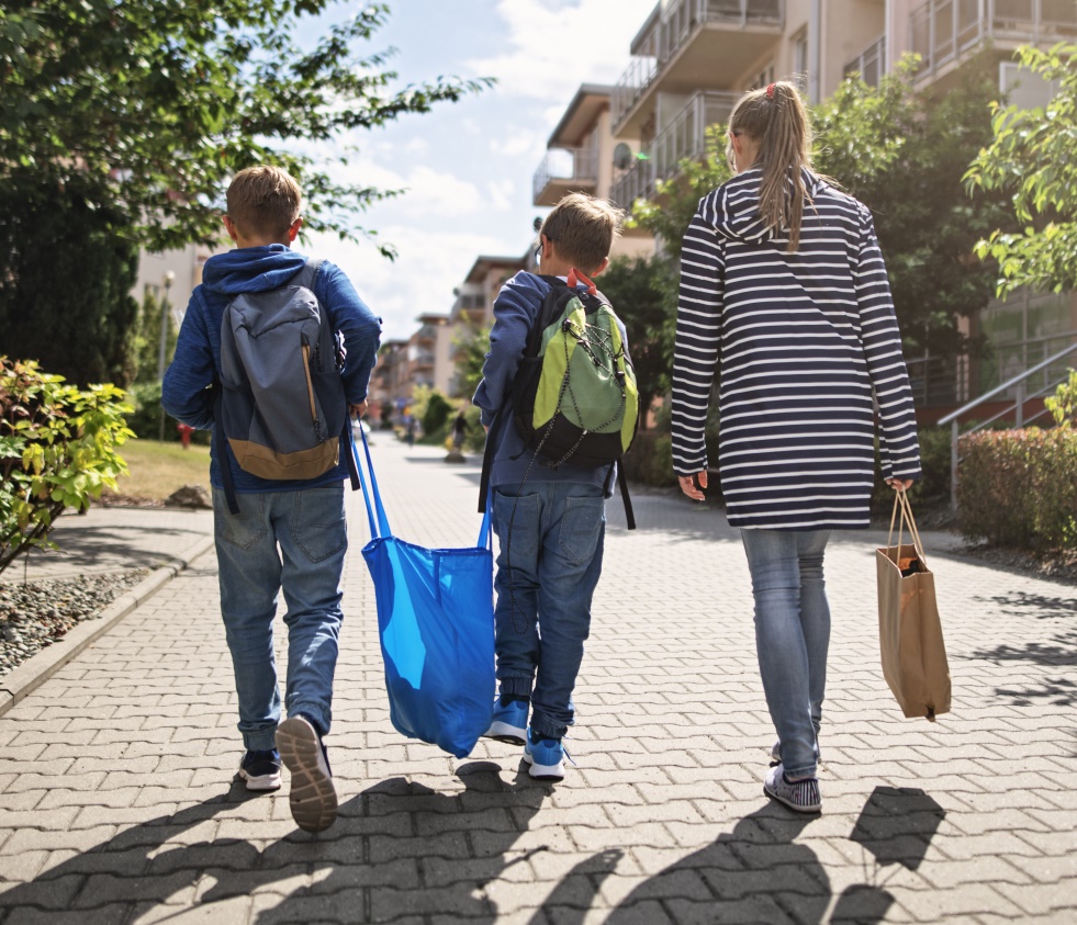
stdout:
POLYGON ((822 576, 829 530, 741 530, 755 597, 755 650, 790 777, 815 777, 827 688, 830 605, 822 576))

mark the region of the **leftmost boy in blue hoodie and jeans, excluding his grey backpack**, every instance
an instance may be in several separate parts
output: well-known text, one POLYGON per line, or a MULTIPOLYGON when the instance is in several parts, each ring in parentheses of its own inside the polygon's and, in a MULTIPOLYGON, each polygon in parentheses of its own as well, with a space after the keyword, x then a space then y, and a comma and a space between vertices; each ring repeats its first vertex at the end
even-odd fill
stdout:
MULTIPOLYGON (((202 284, 191 295, 176 357, 165 374, 161 404, 177 420, 202 430, 213 428, 211 386, 221 380, 225 308, 240 293, 288 285, 306 266, 306 258, 290 249, 303 224, 301 206, 299 184, 277 167, 242 170, 228 187, 224 225, 237 247, 205 262, 202 284)), ((321 264, 312 287, 333 330, 344 335, 347 358, 340 379, 349 414, 361 416, 380 319, 329 262, 321 264)), ((341 452, 347 451, 341 441, 341 452)), ((239 467, 226 440, 213 441, 210 455, 221 614, 247 749, 238 776, 248 790, 276 790, 283 758, 292 778, 292 815, 308 832, 327 828, 337 813, 322 740, 332 719, 343 620, 346 476, 341 461, 316 478, 260 478, 239 467), (217 455, 220 448, 223 456, 217 455), (228 510, 222 466, 232 473, 238 515, 228 510), (283 722, 273 658, 273 619, 281 589, 288 603, 288 719, 283 722)))

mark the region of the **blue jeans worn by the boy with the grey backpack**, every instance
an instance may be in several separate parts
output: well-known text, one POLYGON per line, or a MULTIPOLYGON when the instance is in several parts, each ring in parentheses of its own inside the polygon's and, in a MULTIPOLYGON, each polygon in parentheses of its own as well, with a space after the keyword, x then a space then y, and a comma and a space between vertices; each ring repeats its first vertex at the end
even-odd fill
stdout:
POLYGON ((344 483, 236 498, 239 514, 233 515, 224 492, 213 489, 221 614, 243 743, 262 751, 276 747, 280 721, 273 618, 281 588, 288 605, 288 712, 306 713, 321 733, 329 731, 348 549, 344 483))

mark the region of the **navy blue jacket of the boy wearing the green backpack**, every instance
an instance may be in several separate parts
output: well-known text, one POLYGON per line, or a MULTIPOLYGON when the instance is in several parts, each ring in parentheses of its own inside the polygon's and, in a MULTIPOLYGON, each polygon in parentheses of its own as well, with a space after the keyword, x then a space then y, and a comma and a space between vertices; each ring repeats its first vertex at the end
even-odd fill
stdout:
MULTIPOLYGON (((581 290, 585 286, 581 286, 581 290)), ((503 407, 505 415, 495 439, 490 484, 512 487, 527 482, 584 482, 606 488, 608 497, 617 472, 614 465, 585 469, 565 463, 557 470, 531 461, 535 454, 524 445, 512 420, 513 380, 527 346, 527 335, 538 317, 539 306, 550 284, 535 273, 520 271, 513 277, 494 301, 494 326, 490 330, 490 352, 482 365, 482 382, 475 390, 474 404, 482 409, 482 422, 491 426, 503 407)), ((621 335, 624 336, 624 331, 621 335)))

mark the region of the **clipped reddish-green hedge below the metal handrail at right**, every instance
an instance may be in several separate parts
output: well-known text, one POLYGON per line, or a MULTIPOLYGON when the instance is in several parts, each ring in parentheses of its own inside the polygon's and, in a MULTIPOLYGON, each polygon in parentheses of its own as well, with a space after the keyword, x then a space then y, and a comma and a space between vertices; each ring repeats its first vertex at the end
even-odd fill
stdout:
POLYGON ((1077 430, 966 435, 958 474, 962 535, 1033 552, 1077 549, 1077 430))

